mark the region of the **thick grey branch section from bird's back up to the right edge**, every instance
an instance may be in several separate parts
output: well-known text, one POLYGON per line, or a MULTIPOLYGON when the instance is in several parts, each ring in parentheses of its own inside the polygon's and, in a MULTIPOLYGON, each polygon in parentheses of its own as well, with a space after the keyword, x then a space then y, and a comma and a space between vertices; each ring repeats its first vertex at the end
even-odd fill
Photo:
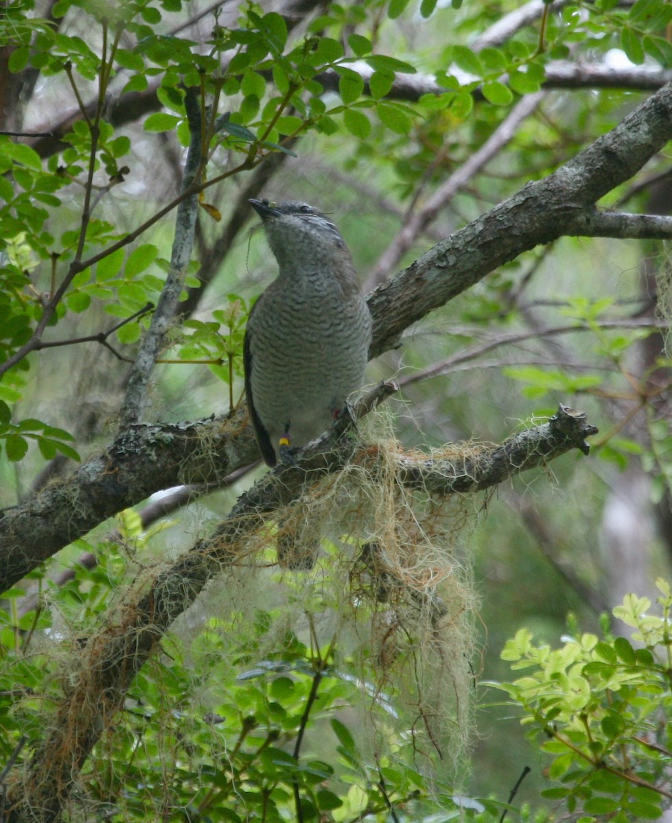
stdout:
POLYGON ((636 174, 672 137, 672 84, 548 177, 436 244, 369 296, 371 356, 399 344, 405 328, 488 272, 567 233, 577 214, 636 174))

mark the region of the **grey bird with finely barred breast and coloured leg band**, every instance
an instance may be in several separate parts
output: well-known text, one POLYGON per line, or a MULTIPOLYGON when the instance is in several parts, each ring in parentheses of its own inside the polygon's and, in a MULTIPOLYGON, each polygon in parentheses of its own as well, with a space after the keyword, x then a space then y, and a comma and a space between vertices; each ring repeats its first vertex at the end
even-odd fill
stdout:
POLYGON ((371 314, 343 237, 301 202, 250 200, 278 261, 245 332, 245 394, 269 466, 292 462, 362 387, 371 314))

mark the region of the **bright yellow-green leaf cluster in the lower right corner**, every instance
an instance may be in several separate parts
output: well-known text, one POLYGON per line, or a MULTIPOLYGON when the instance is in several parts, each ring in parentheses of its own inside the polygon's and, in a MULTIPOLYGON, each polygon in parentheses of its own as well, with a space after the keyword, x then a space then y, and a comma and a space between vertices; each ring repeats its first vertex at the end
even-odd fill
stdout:
POLYGON ((660 616, 649 613, 646 597, 632 594, 614 608, 637 645, 583 634, 551 649, 520 629, 502 658, 525 674, 490 684, 506 692, 530 740, 550 756, 548 777, 558 785, 544 797, 586 823, 601 815, 618 823, 655 820, 672 803, 672 593, 665 580, 656 585, 660 616))

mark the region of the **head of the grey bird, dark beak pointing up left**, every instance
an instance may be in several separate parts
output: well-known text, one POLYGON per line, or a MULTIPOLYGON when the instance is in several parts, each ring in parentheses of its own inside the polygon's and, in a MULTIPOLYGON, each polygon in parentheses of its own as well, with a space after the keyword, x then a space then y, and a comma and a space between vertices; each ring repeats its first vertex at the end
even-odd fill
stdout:
POLYGON ((250 204, 264 223, 268 244, 281 271, 315 259, 349 259, 341 233, 319 209, 303 202, 250 200, 250 204))

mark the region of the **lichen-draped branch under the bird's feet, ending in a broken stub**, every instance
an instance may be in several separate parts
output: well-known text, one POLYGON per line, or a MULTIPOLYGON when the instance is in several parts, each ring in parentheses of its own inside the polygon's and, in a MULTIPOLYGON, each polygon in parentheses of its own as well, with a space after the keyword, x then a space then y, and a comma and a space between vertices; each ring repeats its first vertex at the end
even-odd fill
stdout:
MULTIPOLYGON (((381 384, 364 398, 356 416, 393 390, 394 386, 381 384)), ((89 639, 26 779, 14 783, 7 795, 18 821, 54 821, 91 748, 121 708, 128 686, 156 644, 210 579, 245 556, 247 538, 264 525, 268 514, 351 461, 368 464, 372 472, 380 468, 377 463, 386 457, 371 447, 357 449, 343 438, 344 425, 305 449, 298 465, 278 467, 257 482, 212 537, 197 542, 156 574, 138 600, 119 607, 89 639)), ((441 496, 483 490, 571 449, 586 453, 585 438, 596 431, 586 424, 585 415, 560 407, 548 423, 520 432, 501 446, 470 448, 468 455, 454 459, 397 458, 398 477, 404 485, 441 496)))

